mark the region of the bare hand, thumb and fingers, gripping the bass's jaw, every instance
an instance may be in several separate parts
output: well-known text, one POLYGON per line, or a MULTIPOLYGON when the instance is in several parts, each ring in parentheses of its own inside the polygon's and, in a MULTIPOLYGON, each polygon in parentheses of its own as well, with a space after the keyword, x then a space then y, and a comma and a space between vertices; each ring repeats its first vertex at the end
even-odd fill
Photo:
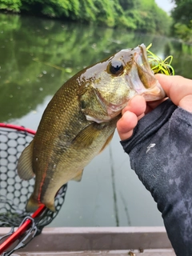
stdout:
MULTIPOLYGON (((175 105, 192 112, 192 80, 181 76, 167 76, 164 74, 156 74, 156 78, 166 91, 166 95, 175 105)), ((146 102, 145 98, 141 95, 132 98, 122 110, 122 118, 118 120, 117 129, 119 137, 122 140, 130 138, 134 127, 138 124, 138 120, 164 100, 146 102)))

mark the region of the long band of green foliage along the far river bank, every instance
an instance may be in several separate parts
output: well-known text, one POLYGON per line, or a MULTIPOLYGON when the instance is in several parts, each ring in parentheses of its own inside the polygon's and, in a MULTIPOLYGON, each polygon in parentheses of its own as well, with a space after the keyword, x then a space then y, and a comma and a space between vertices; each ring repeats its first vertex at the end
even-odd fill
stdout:
POLYGON ((1 9, 147 33, 167 34, 170 25, 154 0, 2 0, 1 9))

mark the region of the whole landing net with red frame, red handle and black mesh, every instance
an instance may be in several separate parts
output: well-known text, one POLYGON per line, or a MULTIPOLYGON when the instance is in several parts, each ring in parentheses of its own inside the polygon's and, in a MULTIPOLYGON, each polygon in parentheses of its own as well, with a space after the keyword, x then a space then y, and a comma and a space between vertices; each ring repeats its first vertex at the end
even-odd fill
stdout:
POLYGON ((16 170, 18 158, 34 134, 34 130, 23 126, 0 123, 0 227, 11 227, 8 234, 0 237, 0 254, 4 256, 26 246, 41 234, 42 228, 58 215, 65 200, 66 184, 55 196, 55 212, 42 205, 34 214, 26 213, 26 202, 34 190, 35 178, 22 181, 16 170), (17 226, 18 230, 14 231, 17 226), (16 240, 16 246, 5 252, 16 240))

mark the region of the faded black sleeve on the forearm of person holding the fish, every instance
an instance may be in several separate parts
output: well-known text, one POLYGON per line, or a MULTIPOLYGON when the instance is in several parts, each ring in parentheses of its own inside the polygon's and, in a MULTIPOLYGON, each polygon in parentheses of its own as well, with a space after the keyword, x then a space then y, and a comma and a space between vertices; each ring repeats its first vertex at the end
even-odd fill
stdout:
POLYGON ((192 255, 192 114, 166 100, 122 141, 178 256, 192 255))

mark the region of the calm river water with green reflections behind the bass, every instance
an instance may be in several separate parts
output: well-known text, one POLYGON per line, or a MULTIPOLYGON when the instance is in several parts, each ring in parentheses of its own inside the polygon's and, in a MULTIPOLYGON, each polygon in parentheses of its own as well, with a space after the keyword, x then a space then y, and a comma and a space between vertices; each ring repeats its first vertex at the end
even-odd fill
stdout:
MULTIPOLYGON (((36 130, 43 110, 78 70, 123 48, 153 44, 172 54, 176 74, 192 78, 192 48, 172 38, 85 24, 0 14, 0 122, 36 130)), ((130 169, 118 134, 69 182, 66 201, 50 226, 162 226, 150 193, 130 169)))

